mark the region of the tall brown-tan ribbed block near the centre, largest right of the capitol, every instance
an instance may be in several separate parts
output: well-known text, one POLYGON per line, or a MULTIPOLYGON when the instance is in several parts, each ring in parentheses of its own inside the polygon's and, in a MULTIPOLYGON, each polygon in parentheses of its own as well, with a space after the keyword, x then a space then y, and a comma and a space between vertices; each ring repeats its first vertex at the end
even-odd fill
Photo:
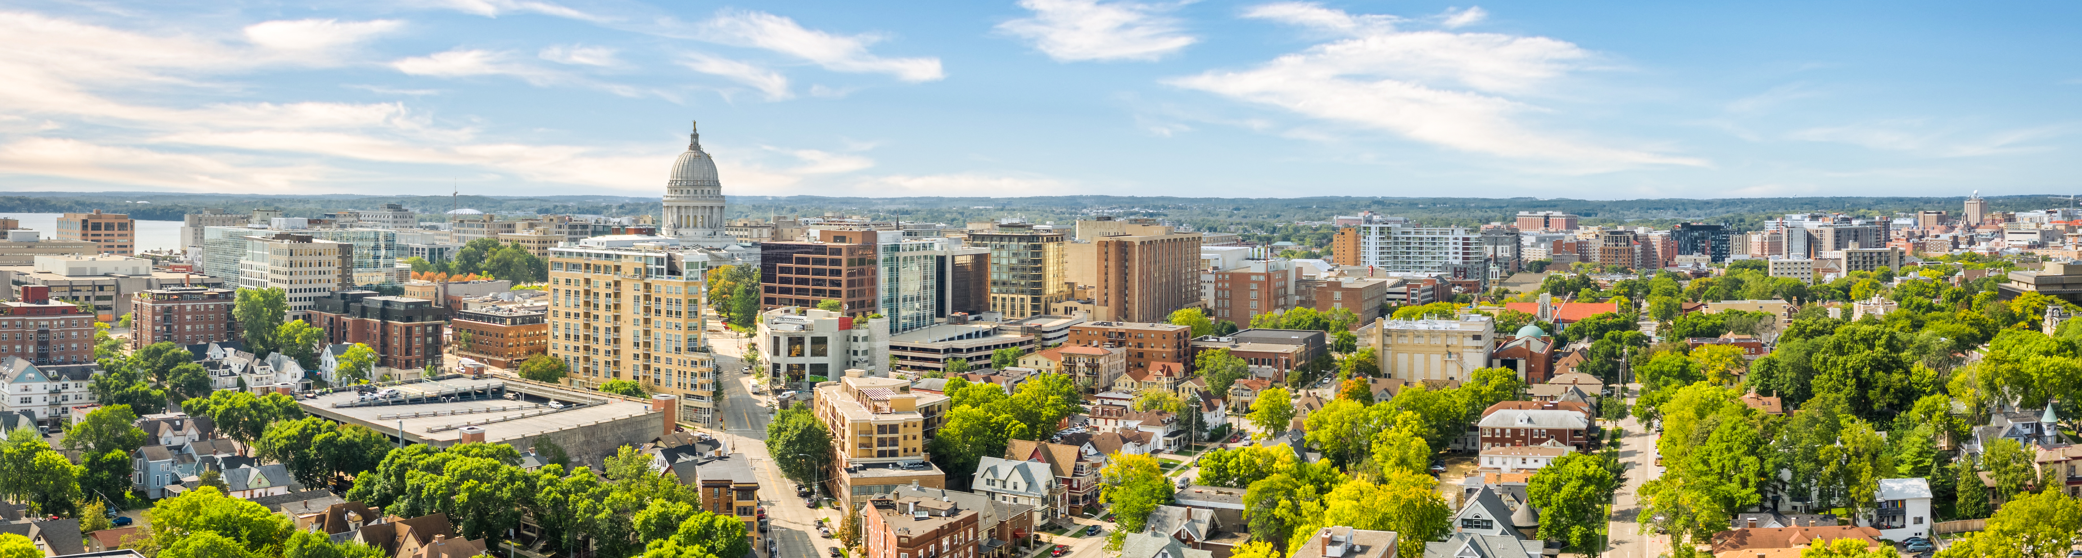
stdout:
POLYGON ((1199 306, 1199 235, 1110 235, 1091 242, 1095 321, 1168 321, 1199 306))

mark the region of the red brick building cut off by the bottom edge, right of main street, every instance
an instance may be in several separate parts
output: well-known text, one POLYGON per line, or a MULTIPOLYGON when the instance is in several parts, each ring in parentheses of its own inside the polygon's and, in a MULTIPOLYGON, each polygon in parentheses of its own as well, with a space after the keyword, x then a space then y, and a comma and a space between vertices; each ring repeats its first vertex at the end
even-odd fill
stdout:
POLYGON ((860 516, 866 558, 976 558, 976 510, 958 502, 881 496, 860 516))

